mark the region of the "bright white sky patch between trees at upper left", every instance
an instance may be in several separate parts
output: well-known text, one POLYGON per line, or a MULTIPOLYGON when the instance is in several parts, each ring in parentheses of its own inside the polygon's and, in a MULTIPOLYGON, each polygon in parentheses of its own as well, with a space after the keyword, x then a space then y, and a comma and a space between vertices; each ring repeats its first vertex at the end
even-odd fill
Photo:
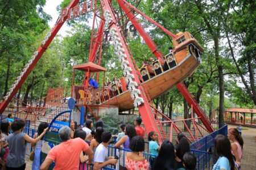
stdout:
MULTIPOLYGON (((52 20, 48 22, 49 27, 53 28, 54 24, 56 23, 57 18, 59 17, 59 13, 56 10, 57 6, 61 4, 63 0, 47 0, 46 5, 44 6, 43 10, 47 14, 52 16, 52 20)), ((69 31, 71 27, 68 27, 67 23, 64 23, 63 26, 60 28, 57 35, 66 36, 66 31, 69 31)))

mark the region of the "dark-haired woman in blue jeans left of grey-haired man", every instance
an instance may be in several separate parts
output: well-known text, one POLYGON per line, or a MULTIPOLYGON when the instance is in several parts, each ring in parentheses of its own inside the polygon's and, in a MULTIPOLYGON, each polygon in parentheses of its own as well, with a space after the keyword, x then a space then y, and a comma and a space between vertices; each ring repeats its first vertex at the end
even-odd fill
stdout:
MULTIPOLYGON (((47 122, 41 122, 40 125, 38 126, 38 133, 34 134, 34 139, 39 137, 44 129, 48 127, 47 122)), ((43 137, 42 137, 43 138, 43 137)), ((31 143, 31 147, 35 146, 35 157, 32 163, 32 169, 34 170, 39 170, 40 169, 40 153, 41 153, 41 148, 42 148, 43 141, 40 139, 36 143, 31 143)))

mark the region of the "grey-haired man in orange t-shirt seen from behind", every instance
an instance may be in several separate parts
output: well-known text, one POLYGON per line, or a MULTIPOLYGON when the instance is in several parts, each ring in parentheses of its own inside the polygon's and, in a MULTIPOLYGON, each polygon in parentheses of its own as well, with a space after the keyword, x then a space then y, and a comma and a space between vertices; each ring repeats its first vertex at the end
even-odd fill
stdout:
POLYGON ((89 145, 81 138, 71 139, 71 129, 68 126, 59 130, 59 136, 63 142, 49 151, 40 169, 48 169, 54 161, 53 170, 77 170, 79 169, 81 151, 89 156, 89 163, 92 161, 93 151, 89 145))

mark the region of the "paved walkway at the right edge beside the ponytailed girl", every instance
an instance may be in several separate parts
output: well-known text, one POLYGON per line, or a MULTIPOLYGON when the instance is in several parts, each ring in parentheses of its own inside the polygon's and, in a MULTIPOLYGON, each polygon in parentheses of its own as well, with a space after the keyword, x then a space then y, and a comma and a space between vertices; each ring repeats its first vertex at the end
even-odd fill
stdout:
MULTIPOLYGON (((228 128, 236 128, 237 126, 228 125, 228 128)), ((243 137, 243 156, 241 160, 241 169, 256 169, 256 142, 254 137, 256 136, 255 128, 247 128, 247 130, 242 130, 243 137)))

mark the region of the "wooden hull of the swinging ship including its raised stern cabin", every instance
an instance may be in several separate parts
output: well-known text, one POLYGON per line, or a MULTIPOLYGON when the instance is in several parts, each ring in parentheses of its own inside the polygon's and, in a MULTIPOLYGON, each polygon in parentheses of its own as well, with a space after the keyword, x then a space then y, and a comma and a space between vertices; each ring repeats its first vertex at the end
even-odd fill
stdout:
MULTIPOLYGON (((163 71, 163 73, 149 78, 146 81, 144 80, 143 82, 151 100, 164 94, 164 92, 170 90, 170 88, 174 87, 177 83, 183 82, 183 80, 193 74, 201 63, 200 54, 202 51, 203 49, 201 49, 201 46, 197 46, 195 39, 190 39, 183 44, 176 44, 173 52, 166 56, 166 62, 168 61, 168 55, 172 56, 175 60, 175 66, 172 65, 172 67, 169 67, 169 69, 163 71)), ((116 105, 119 108, 119 112, 134 108, 130 90, 124 91, 104 101, 102 104, 116 105)))

